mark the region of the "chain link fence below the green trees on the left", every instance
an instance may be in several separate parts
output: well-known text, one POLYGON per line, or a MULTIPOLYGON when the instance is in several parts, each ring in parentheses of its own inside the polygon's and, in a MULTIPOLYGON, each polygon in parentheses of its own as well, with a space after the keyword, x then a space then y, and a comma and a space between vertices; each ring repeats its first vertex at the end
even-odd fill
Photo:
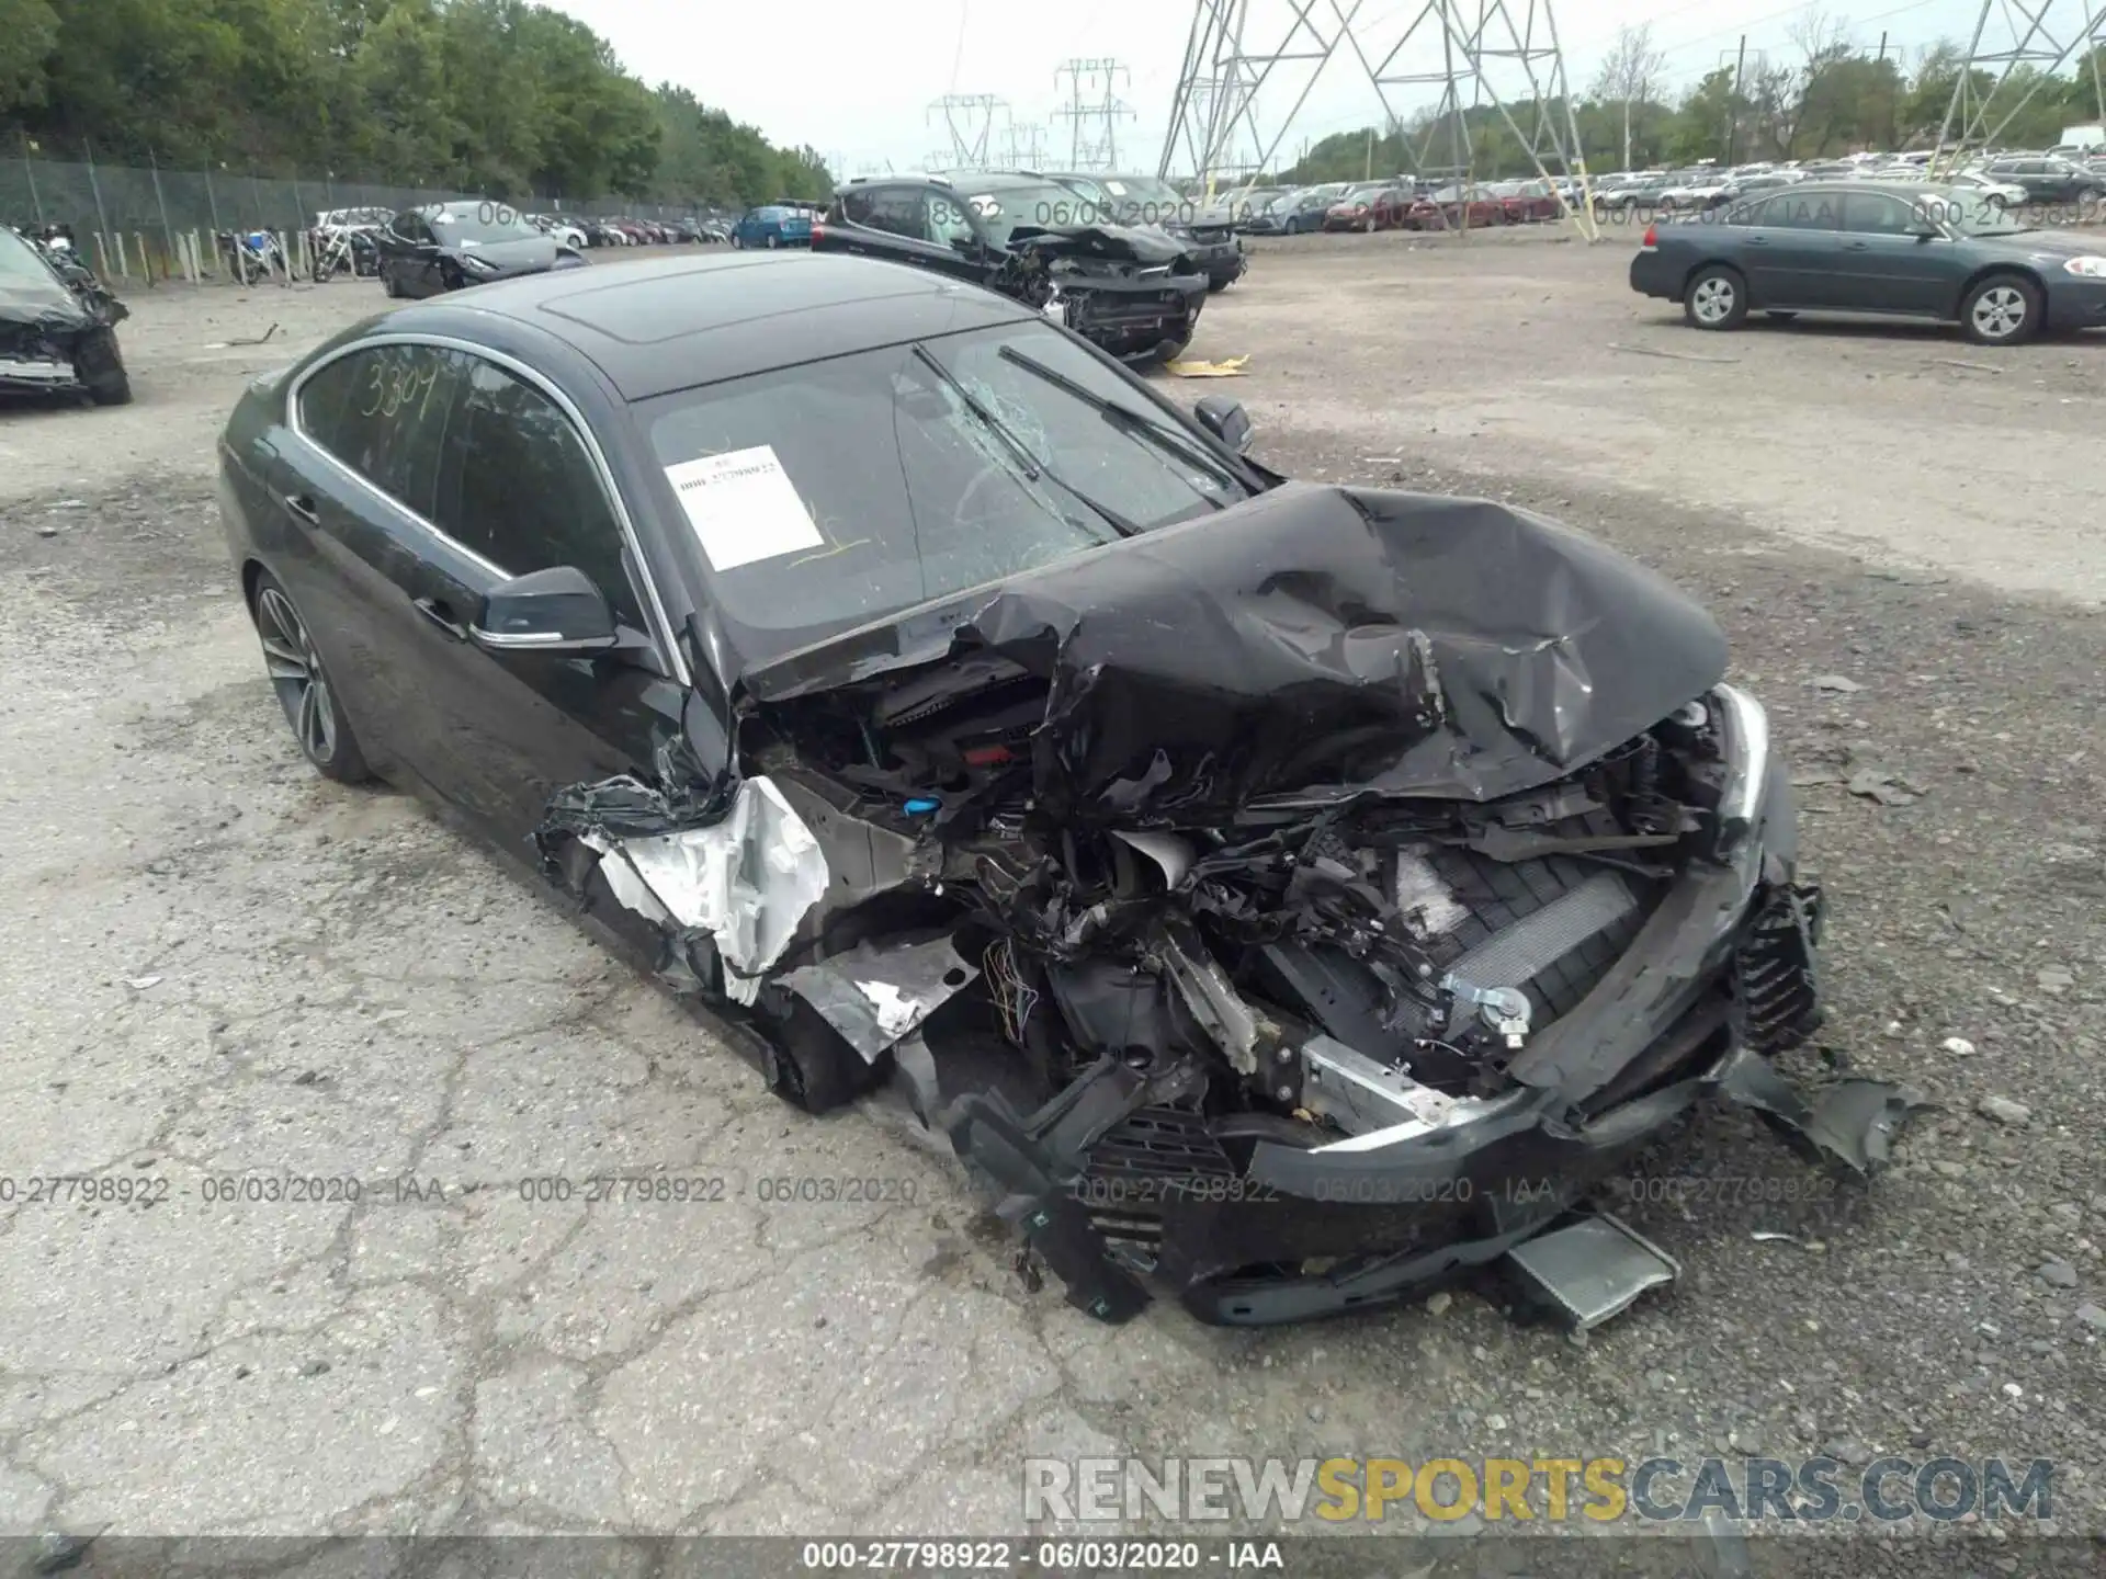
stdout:
MULTIPOLYGON (((425 202, 480 200, 476 192, 406 187, 335 177, 257 177, 232 171, 162 171, 152 164, 0 156, 0 225, 67 225, 105 278, 177 280, 225 274, 217 236, 267 229, 286 255, 316 215, 333 208, 394 213, 425 202)), ((529 198, 529 213, 583 217, 689 219, 706 204, 655 204, 625 198, 529 198)))

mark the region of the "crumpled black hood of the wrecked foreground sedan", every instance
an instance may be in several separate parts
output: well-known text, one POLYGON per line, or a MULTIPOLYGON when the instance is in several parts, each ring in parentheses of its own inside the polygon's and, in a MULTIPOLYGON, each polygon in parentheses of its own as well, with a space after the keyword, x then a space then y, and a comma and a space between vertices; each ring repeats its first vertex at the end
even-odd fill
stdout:
MULTIPOLYGON (((868 632, 840 646, 836 676, 880 667, 868 632)), ((1122 823, 1518 794, 1651 728, 1727 661, 1689 598, 1542 516, 1312 484, 1005 581, 946 661, 975 651, 1049 682, 1047 811, 1122 823)), ((746 684, 760 701, 826 688, 828 657, 746 684)))

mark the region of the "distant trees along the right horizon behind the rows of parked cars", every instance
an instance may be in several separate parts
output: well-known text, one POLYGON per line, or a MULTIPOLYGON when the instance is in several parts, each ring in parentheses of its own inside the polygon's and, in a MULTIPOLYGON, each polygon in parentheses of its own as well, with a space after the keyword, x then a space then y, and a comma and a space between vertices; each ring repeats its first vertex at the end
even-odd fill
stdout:
MULTIPOLYGON (((2060 76, 2020 63, 2001 82, 1994 72, 1975 67, 1967 82, 1969 107, 1982 128, 2003 124, 2005 114, 2015 109, 1996 141, 2005 147, 2047 147, 2060 141, 2066 126, 2098 124, 2106 48, 2095 55, 2095 61, 2081 57, 2060 76)), ((1938 42, 1919 51, 1910 65, 1895 55, 1851 48, 1834 25, 1813 19, 1790 51, 1750 59, 1740 72, 1737 93, 1735 67, 1727 65, 1678 95, 1662 82, 1662 59, 1643 25, 1626 27, 1592 88, 1573 101, 1588 171, 1931 147, 1952 105, 1967 51, 1950 40, 1938 42)), ((1508 103, 1506 109, 1539 149, 1554 147, 1548 135, 1537 133, 1535 105, 1508 103)), ((1565 101, 1548 101, 1542 112, 1563 133, 1565 101)), ((1954 122, 1952 135, 1959 133, 1954 122)), ((1424 112, 1400 126, 1335 133, 1312 145, 1283 179, 1358 181, 1367 173, 1379 179, 1457 166, 1483 179, 1533 171, 1527 143, 1514 137, 1497 105, 1485 103, 1466 107, 1459 120, 1424 112)))

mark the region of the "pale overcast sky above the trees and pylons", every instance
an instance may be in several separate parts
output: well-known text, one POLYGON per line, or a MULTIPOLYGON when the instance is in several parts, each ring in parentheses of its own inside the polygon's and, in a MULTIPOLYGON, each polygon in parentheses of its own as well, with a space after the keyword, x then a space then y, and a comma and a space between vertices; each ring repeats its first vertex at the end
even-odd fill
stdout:
MULTIPOLYGON (((998 112, 988 154, 1002 156, 1002 124, 1040 128, 1040 149, 1049 166, 1072 154, 1072 124, 1059 118, 1070 97, 1070 78, 1059 74, 1068 59, 1116 57, 1125 67, 1114 95, 1133 116, 1114 122, 1118 164, 1152 171, 1192 27, 1192 0, 1066 0, 1032 6, 1019 0, 779 0, 777 4, 701 6, 695 0, 552 0, 609 38, 623 65, 651 84, 661 80, 691 88, 703 103, 727 109, 760 126, 777 143, 811 143, 836 168, 855 175, 870 168, 914 168, 931 154, 952 147, 952 131, 929 105, 943 95, 994 95, 1007 101, 998 112)), ((2053 0, 2058 8, 2081 11, 2079 0, 2053 0)), ((1352 11, 1352 0, 1339 0, 1352 11)), ((1371 63, 1403 36, 1424 0, 1360 0, 1354 32, 1371 63)), ((1472 0, 1464 0, 1474 11, 1472 0)), ((1329 4, 1316 8, 1329 15, 1329 4)), ((1516 23, 1527 19, 1527 0, 1508 0, 1516 23)), ((1740 34, 1748 48, 1794 53, 1792 29, 1815 6, 1786 6, 1782 0, 1558 0, 1556 25, 1565 46, 1565 69, 1575 91, 1586 91, 1615 29, 1624 21, 1653 23, 1653 42, 1666 55, 1672 82, 1693 82, 1731 63, 1740 34)), ((1853 42, 1876 48, 1881 32, 1904 61, 1940 36, 1965 38, 1973 32, 1978 0, 1862 0, 1826 4, 1826 17, 1847 21, 1853 42)), ((1261 53, 1285 36, 1291 13, 1285 0, 1251 0, 1245 32, 1247 53, 1261 53)), ((1537 13, 1542 15, 1542 13, 1537 13)), ((2074 15, 2074 11, 2072 11, 2074 15)), ((1537 23, 1539 25, 1539 23, 1537 23)), ((1984 48, 2009 48, 1992 23, 1984 48)), ((1542 34, 1539 34, 1542 36, 1542 34)), ((1428 21, 1384 76, 1438 72, 1441 34, 1428 21)), ((1487 36, 1487 46, 1495 42, 1487 36)), ((1487 67, 1491 69, 1491 67, 1487 67)), ((1310 65, 1280 65, 1259 97, 1259 124, 1270 135, 1308 82, 1310 65)), ((1514 67, 1493 72, 1491 86, 1510 97, 1523 80, 1514 67)), ((1104 76, 1085 80, 1085 99, 1104 99, 1104 76)), ((1430 103, 1438 86, 1392 86, 1390 103, 1409 116, 1430 103)), ((1289 156, 1304 141, 1333 131, 1365 126, 1382 116, 1382 101, 1367 72, 1348 48, 1339 48, 1316 78, 1308 101, 1295 114, 1283 141, 1289 156)), ((979 120, 956 116, 958 135, 969 143, 979 120)), ((1087 128, 1101 137, 1101 122, 1087 128)), ((1021 143, 1028 147, 1026 141, 1021 143)), ((946 158, 946 162, 956 162, 946 158)))

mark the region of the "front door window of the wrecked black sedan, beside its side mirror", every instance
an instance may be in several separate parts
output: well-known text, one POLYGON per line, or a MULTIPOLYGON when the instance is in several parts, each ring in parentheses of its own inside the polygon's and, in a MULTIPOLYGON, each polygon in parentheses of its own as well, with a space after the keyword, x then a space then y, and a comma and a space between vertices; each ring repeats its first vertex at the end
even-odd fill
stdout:
POLYGON ((453 354, 459 396, 432 520, 505 575, 571 564, 632 629, 649 629, 621 552, 621 524, 571 419, 501 366, 453 354))

